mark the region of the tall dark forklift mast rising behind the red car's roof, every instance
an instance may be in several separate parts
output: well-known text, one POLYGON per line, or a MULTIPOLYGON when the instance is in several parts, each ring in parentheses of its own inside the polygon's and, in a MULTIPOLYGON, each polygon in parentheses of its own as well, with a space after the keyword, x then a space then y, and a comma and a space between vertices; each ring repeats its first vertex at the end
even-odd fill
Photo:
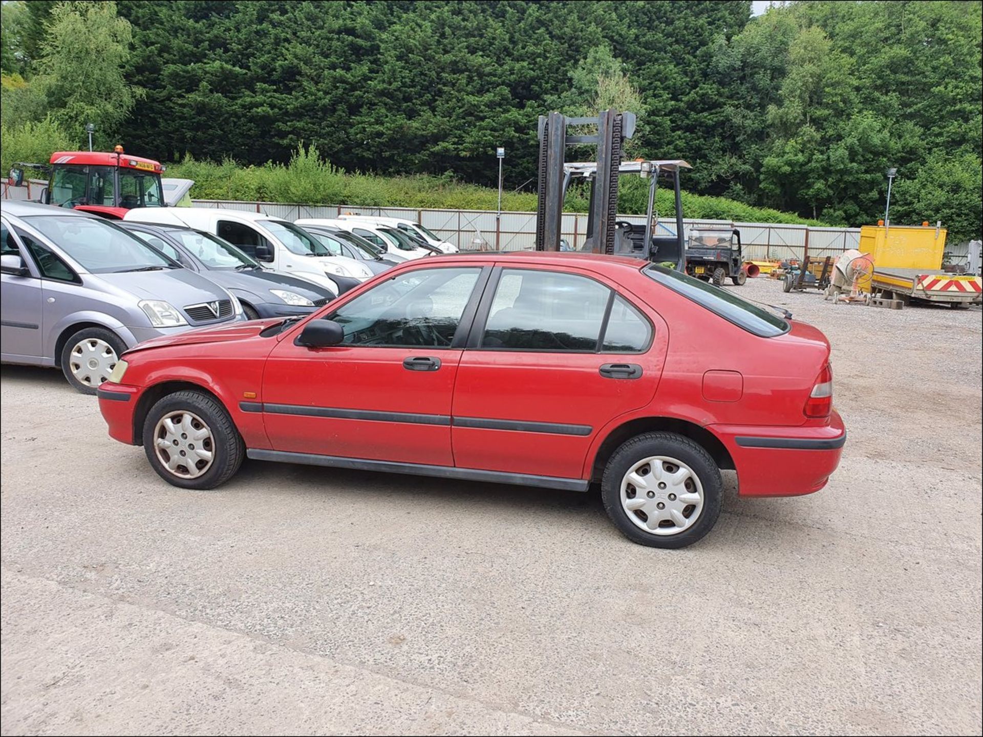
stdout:
POLYGON ((563 217, 563 197, 570 184, 564 171, 567 146, 596 144, 597 173, 591 186, 585 251, 614 252, 617 217, 617 183, 624 141, 635 132, 635 114, 605 110, 596 118, 568 118, 560 113, 540 116, 539 189, 536 210, 536 250, 558 251, 563 217), (597 126, 593 134, 570 135, 570 126, 597 126))

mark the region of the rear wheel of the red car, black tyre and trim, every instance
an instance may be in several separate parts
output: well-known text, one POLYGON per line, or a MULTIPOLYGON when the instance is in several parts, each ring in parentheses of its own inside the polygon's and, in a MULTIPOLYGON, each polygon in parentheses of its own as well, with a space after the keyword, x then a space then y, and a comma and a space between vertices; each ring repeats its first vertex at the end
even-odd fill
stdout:
POLYGON ((721 471, 703 447, 674 433, 626 441, 605 466, 601 496, 607 515, 632 542, 685 548, 721 514, 721 471))

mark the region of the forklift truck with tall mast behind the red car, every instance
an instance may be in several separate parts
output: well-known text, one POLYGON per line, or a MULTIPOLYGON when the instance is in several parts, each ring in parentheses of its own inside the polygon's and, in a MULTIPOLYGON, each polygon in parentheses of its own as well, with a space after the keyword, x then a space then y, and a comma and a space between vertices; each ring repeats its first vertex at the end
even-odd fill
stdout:
POLYGON ((536 213, 536 250, 559 251, 563 199, 571 180, 591 183, 586 241, 580 250, 644 258, 678 271, 686 270, 683 242, 682 201, 679 172, 690 169, 681 159, 621 162, 624 141, 635 132, 635 114, 606 110, 597 118, 568 118, 560 113, 540 116, 539 200, 536 213), (570 134, 569 127, 596 127, 596 133, 570 134), (591 144, 598 147, 596 162, 564 160, 567 146, 591 144), (617 185, 621 175, 649 179, 649 203, 645 225, 617 220, 617 185), (659 183, 675 193, 675 235, 657 236, 655 214, 659 183))

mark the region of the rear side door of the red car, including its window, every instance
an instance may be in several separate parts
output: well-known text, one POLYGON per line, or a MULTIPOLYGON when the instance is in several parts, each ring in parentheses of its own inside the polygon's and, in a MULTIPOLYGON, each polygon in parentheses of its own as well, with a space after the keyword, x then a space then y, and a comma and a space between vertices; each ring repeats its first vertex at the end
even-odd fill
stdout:
POLYGON ((572 270, 495 269, 457 371, 457 466, 579 478, 595 435, 651 401, 665 324, 611 287, 572 270))

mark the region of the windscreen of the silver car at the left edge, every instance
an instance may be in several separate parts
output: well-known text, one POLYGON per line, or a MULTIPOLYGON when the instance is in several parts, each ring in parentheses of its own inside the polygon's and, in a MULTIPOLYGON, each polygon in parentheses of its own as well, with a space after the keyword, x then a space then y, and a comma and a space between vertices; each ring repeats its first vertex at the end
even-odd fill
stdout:
POLYGON ((105 220, 40 215, 25 221, 91 274, 179 268, 140 238, 105 220))

